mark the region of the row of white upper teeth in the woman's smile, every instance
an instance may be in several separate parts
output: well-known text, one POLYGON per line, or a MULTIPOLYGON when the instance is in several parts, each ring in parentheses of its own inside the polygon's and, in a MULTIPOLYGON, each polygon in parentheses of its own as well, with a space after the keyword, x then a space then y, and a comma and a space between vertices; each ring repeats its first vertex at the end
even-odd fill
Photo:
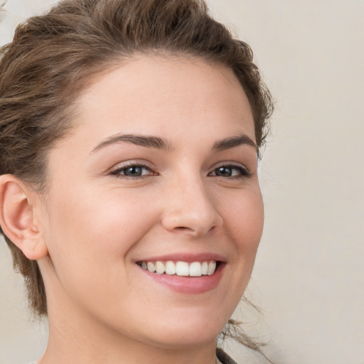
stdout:
POLYGON ((184 277, 200 277, 201 275, 210 276, 215 272, 216 261, 210 260, 207 262, 141 262, 141 268, 156 272, 157 274, 177 274, 184 277))

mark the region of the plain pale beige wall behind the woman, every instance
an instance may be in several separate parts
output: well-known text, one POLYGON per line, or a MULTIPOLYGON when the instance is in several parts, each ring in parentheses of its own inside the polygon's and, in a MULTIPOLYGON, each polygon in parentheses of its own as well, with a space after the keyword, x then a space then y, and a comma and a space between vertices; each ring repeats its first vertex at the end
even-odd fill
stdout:
MULTIPOLYGON (((0 1, 1 2, 1 1, 0 1)), ((9 0, 0 43, 53 1, 9 0)), ((247 331, 277 364, 364 363, 364 1, 209 0, 253 50, 277 100, 260 164, 265 228, 248 296, 247 331)), ((21 278, 0 242, 0 363, 45 345, 21 278)), ((264 363, 234 345, 235 360, 264 363), (245 361, 247 360, 247 361, 245 361)))

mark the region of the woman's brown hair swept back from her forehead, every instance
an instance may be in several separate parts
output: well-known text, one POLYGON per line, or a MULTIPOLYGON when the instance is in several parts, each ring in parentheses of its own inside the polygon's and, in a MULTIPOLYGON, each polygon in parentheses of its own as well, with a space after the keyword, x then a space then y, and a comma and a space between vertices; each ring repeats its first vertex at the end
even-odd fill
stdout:
MULTIPOLYGON (((87 79, 135 53, 186 55, 231 68, 262 146, 272 112, 269 91, 249 45, 215 21, 203 0, 65 0, 18 26, 1 50, 0 175, 14 174, 41 191, 47 152, 72 127, 70 105, 87 79)), ((46 314, 38 264, 5 239, 31 308, 46 314)))

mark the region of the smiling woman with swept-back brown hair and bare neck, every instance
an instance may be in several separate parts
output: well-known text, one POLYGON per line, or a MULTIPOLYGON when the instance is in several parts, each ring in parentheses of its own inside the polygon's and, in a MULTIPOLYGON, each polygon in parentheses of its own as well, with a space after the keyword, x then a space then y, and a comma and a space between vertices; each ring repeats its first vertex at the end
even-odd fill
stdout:
POLYGON ((272 110, 249 46, 202 1, 70 0, 3 53, 0 223, 39 363, 233 363, 272 110))

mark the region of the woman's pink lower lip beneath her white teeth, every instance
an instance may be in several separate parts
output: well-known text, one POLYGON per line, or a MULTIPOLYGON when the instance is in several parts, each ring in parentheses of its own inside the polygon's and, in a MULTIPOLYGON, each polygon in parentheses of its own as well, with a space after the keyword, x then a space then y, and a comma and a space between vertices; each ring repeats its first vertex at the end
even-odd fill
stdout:
POLYGON ((154 279, 155 282, 168 287, 172 291, 183 294, 202 294, 218 287, 221 277, 223 276, 223 269, 225 264, 218 264, 214 274, 210 276, 200 277, 180 277, 176 274, 157 274, 149 272, 140 267, 141 271, 154 279))

